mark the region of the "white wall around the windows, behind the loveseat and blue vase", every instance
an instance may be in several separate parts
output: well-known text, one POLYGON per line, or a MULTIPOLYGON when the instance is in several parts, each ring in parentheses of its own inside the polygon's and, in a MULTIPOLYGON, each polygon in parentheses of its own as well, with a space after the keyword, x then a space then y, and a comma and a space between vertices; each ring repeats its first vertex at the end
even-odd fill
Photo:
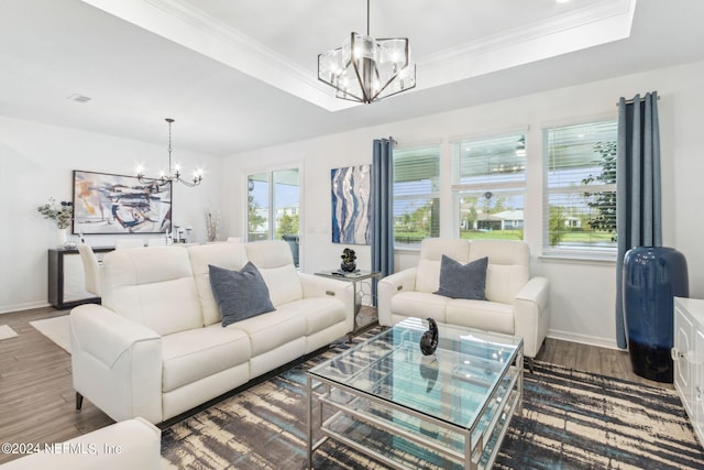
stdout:
MULTIPOLYGON (((666 245, 679 249, 688 259, 691 296, 704 297, 704 250, 700 242, 704 219, 698 216, 704 192, 701 183, 704 175, 701 131, 704 123, 701 116, 704 110, 703 79, 704 63, 695 63, 234 155, 223 164, 223 173, 232 181, 239 181, 226 188, 229 192, 227 199, 241 201, 228 210, 229 227, 240 232, 244 227, 243 182, 248 173, 302 162, 301 270, 315 272, 336 267, 344 247, 330 240, 331 168, 371 163, 372 140, 375 138, 393 135, 402 147, 439 142, 442 144, 443 164, 447 165, 449 142, 453 139, 528 129, 526 240, 534 254, 534 273, 546 275, 551 281, 550 336, 615 347, 615 263, 540 258, 542 129, 592 119, 615 119, 619 97, 658 91, 661 96, 663 240, 666 245), (242 197, 238 197, 237 192, 242 197)), ((449 174, 444 173, 441 192, 449 194, 449 174)), ((447 207, 444 204, 443 209, 447 207)), ((447 210, 441 215, 441 236, 453 237, 452 223, 449 222, 451 215, 448 216, 447 210)), ((358 264, 369 267, 369 247, 355 249, 358 264)), ((413 265, 416 256, 399 252, 396 260, 398 270, 413 265)))

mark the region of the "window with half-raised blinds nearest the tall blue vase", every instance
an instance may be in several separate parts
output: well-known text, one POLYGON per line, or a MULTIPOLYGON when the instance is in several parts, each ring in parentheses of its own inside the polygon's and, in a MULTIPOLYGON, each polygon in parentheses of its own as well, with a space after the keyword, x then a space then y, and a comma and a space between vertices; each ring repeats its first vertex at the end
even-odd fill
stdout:
POLYGON ((546 254, 616 254, 615 121, 544 130, 546 254))

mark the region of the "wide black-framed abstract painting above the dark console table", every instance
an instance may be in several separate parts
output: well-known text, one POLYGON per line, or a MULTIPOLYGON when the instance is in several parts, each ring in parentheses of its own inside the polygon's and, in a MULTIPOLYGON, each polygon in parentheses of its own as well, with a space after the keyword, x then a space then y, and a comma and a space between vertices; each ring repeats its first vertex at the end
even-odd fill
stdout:
POLYGON ((172 230, 172 184, 74 171, 74 233, 160 233, 172 230))

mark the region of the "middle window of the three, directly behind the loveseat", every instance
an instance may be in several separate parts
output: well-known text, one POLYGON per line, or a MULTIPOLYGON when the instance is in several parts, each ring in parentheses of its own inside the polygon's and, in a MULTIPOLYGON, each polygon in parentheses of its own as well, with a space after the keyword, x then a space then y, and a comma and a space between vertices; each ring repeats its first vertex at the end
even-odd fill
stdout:
POLYGON ((452 143, 460 238, 524 239, 526 134, 452 143))

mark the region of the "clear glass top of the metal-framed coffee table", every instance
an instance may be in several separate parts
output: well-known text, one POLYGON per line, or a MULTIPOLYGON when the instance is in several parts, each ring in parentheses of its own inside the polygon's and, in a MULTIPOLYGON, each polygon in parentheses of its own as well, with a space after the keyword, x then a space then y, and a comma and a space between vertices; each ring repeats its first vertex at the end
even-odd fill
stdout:
POLYGON ((382 403, 471 428, 506 375, 522 339, 438 324, 439 345, 420 352, 428 324, 408 318, 309 373, 362 392, 382 403))

